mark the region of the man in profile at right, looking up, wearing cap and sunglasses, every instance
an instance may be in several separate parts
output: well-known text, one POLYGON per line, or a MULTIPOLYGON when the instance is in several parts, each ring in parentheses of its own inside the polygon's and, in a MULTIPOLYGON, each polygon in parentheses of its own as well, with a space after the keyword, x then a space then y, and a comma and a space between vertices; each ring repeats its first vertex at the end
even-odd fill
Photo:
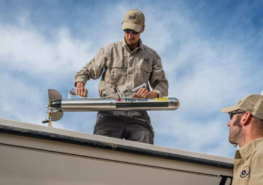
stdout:
POLYGON ((229 142, 240 147, 232 184, 263 184, 263 95, 248 95, 222 112, 230 114, 229 142))

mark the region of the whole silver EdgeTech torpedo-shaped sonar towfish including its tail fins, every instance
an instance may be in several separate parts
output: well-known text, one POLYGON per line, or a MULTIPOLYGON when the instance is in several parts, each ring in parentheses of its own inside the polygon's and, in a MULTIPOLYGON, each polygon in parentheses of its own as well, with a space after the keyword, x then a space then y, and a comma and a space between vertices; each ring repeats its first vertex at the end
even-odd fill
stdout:
MULTIPOLYGON (((69 96, 70 97, 70 96, 69 96)), ((48 90, 47 113, 51 121, 58 121, 63 112, 88 112, 104 110, 176 110, 180 102, 175 97, 156 98, 84 98, 63 100, 57 90, 48 90)))

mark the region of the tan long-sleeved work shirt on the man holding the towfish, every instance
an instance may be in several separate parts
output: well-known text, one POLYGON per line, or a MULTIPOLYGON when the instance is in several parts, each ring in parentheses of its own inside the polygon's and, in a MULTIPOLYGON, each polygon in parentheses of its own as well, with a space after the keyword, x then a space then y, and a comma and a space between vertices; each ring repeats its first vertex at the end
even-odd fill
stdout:
MULTIPOLYGON (((118 93, 132 90, 148 82, 159 97, 168 95, 168 81, 161 64, 161 58, 156 51, 143 45, 130 51, 126 41, 110 43, 96 54, 79 72, 75 74, 74 82, 86 83, 87 80, 100 78, 100 97, 114 95, 114 87, 118 93), (103 73, 103 74, 102 74, 103 73)), ((149 90, 149 87, 147 87, 149 90)), ((111 98, 117 98, 113 96, 111 98)), ((122 96, 121 96, 122 97, 122 96)))

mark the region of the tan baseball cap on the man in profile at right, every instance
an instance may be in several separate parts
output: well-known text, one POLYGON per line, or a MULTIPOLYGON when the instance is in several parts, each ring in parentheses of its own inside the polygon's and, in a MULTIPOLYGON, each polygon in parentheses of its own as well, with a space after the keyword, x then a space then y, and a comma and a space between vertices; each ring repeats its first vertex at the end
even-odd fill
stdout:
POLYGON ((263 95, 247 95, 232 107, 222 108, 222 112, 232 112, 234 110, 245 110, 259 119, 263 120, 263 95))

